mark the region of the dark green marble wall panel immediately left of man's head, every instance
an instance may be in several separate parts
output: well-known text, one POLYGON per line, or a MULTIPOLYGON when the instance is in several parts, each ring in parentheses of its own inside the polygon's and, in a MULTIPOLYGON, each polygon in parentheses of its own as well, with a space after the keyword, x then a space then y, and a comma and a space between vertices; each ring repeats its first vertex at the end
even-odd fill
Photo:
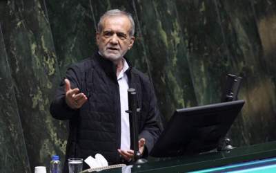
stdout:
POLYGON ((87 0, 46 1, 62 76, 70 64, 90 57, 97 50, 92 9, 92 2, 87 0))

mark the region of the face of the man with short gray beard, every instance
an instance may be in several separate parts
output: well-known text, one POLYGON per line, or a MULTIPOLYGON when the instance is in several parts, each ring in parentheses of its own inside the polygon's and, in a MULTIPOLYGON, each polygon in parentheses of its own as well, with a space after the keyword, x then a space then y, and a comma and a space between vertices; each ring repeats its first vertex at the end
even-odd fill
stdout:
POLYGON ((126 16, 106 17, 103 19, 101 33, 96 39, 99 52, 112 62, 119 62, 132 47, 134 37, 130 37, 130 21, 126 16))

